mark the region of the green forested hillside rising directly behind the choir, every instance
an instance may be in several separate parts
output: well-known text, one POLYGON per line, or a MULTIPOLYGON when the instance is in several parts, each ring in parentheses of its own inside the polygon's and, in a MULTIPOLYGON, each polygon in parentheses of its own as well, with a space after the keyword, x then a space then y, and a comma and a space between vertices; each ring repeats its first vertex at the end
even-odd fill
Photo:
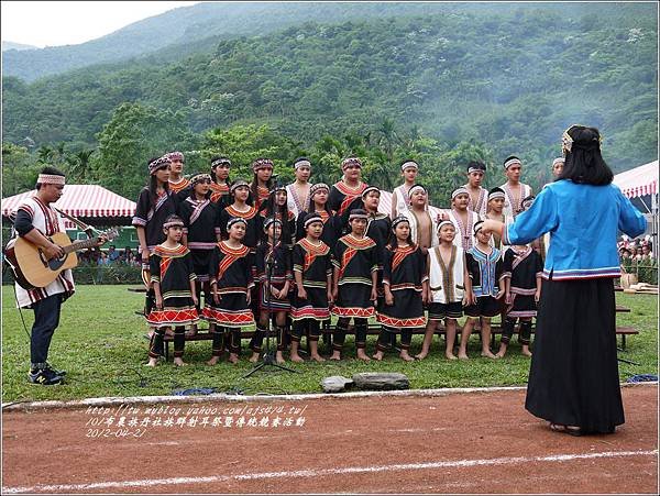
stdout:
POLYGON ((623 170, 657 154, 656 9, 307 22, 174 62, 147 57, 33 84, 6 77, 3 139, 18 146, 3 147, 3 196, 30 185, 41 159, 132 197, 145 161, 178 147, 188 170, 206 168, 213 152, 242 167, 268 154, 283 178, 305 153, 328 180, 342 155, 361 153, 367 178, 385 187, 413 155, 439 203, 469 157, 486 159, 496 185, 502 159, 518 154, 538 188, 571 123, 598 126, 606 159, 623 170))

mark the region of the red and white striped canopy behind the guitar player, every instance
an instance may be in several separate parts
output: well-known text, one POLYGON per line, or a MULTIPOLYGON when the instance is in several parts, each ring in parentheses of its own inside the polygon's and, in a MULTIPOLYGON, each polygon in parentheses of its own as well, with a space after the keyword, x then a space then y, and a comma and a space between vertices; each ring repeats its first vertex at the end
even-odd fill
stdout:
MULTIPOLYGON (((25 191, 2 199, 2 216, 9 217, 21 202, 35 195, 25 191)), ((74 217, 133 217, 135 202, 97 185, 66 185, 54 207, 74 217)))

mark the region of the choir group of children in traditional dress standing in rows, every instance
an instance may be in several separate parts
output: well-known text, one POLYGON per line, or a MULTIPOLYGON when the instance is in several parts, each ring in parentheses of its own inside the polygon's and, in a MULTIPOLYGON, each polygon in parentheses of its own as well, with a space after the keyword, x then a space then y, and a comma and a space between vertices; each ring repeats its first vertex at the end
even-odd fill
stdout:
MULTIPOLYGON (((554 161, 556 175, 562 162, 554 161)), ((140 192, 132 223, 153 298, 145 309, 150 365, 156 365, 166 333, 174 334, 175 364, 184 365, 186 337, 197 332, 200 319, 212 335, 211 365, 226 351, 237 363, 241 330, 253 326, 250 360, 257 361, 271 322, 277 362, 287 350, 289 360, 302 362, 302 335, 310 359, 321 362, 321 324, 332 315, 330 360, 341 360, 351 320, 356 356, 370 360, 372 317, 381 323, 376 360, 397 334, 403 360, 426 357, 441 321, 449 360, 468 359, 475 326, 482 356, 504 356, 518 320, 522 353, 531 355, 544 242, 504 245, 499 235, 481 229, 486 219, 512 221, 534 201, 531 188, 520 181, 518 157, 504 161, 507 181, 491 190, 481 186, 486 166, 470 162, 468 183, 440 213, 432 213, 428 191, 416 183, 419 165, 413 159, 400 165, 404 183, 393 191, 389 214, 378 210, 381 190, 362 180, 360 158, 344 159, 343 177, 332 186, 309 181, 308 158, 293 166, 296 180, 283 186, 268 158, 252 163, 250 183, 230 181, 231 162, 223 156, 211 158, 210 174, 190 178, 183 174, 180 152, 148 162, 150 184, 140 192), (457 319, 463 315, 457 356, 457 319), (495 316, 503 319, 497 353, 490 349, 495 316), (411 356, 411 331, 420 328, 426 328, 424 344, 411 356)))

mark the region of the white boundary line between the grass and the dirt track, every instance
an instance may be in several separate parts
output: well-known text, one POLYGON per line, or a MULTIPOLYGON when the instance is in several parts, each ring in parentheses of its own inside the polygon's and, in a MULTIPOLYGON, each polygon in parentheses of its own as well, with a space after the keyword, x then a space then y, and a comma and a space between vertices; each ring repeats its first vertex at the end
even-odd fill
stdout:
MULTIPOLYGON (((622 387, 641 387, 652 385, 657 386, 658 382, 647 383, 622 383, 622 387)), ((525 390, 527 386, 503 386, 503 387, 444 387, 439 389, 405 389, 405 390, 370 390, 370 392, 352 392, 352 393, 312 393, 300 395, 228 395, 212 394, 201 396, 128 396, 128 397, 100 397, 75 399, 69 401, 16 401, 3 403, 2 411, 16 411, 29 409, 69 409, 81 407, 101 407, 112 405, 154 405, 162 403, 212 403, 212 401, 273 401, 273 400, 289 400, 305 401, 311 399, 338 399, 338 398, 369 398, 369 397, 427 397, 427 396, 448 396, 453 394, 466 393, 498 393, 525 390)))

